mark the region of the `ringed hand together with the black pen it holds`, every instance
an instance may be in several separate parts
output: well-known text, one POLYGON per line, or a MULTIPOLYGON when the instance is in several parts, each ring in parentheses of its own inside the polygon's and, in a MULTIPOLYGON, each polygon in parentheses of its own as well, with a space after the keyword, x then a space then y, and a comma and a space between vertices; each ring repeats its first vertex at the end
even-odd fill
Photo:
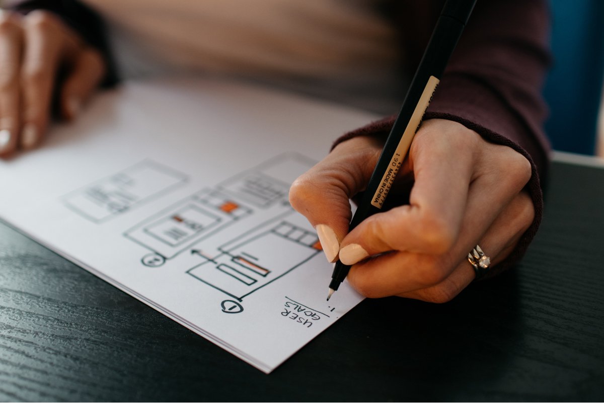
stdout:
MULTIPOLYGON (((532 199, 522 192, 532 175, 524 156, 487 144, 478 133, 452 121, 434 119, 422 125, 475 2, 445 3, 383 148, 370 150, 359 167, 364 150, 342 151, 338 146, 292 186, 292 206, 317 229, 327 259, 339 255, 327 300, 354 264, 350 282, 362 294, 449 300, 509 255, 533 221, 532 199), (423 145, 412 145, 420 132, 423 145), (388 194, 396 189, 403 164, 414 182, 408 185, 408 197, 397 197, 395 206, 400 205, 388 210, 393 205, 388 194), (312 206, 313 192, 326 199, 323 211, 312 206), (363 195, 350 220, 350 233, 342 240, 344 222, 351 217, 345 201, 358 192, 363 195), (490 236, 493 225, 507 232, 490 236), (490 256, 483 252, 485 246, 490 256), (363 259, 369 260, 358 264, 363 259), (422 262, 432 266, 422 267, 422 262)), ((357 142, 353 144, 348 147, 357 142)))

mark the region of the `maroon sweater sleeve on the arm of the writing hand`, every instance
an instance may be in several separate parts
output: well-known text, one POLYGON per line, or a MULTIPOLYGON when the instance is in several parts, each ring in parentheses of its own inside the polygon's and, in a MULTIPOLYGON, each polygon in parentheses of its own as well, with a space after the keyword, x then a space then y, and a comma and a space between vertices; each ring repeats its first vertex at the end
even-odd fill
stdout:
MULTIPOLYGON (((439 5, 432 6, 437 10, 439 5)), ((541 0, 478 0, 424 116, 459 122, 487 141, 512 147, 532 165, 527 189, 535 206, 535 220, 512 254, 485 277, 518 262, 541 222, 541 183, 547 173, 550 149, 543 131, 547 108, 541 97, 550 63, 548 16, 546 2, 541 0)), ((413 14, 406 17, 408 24, 413 25, 413 14)), ((410 32, 409 25, 406 27, 405 31, 410 32)), ((425 43, 427 40, 422 39, 425 43)), ((390 116, 346 133, 334 147, 355 136, 386 135, 394 118, 390 116)))

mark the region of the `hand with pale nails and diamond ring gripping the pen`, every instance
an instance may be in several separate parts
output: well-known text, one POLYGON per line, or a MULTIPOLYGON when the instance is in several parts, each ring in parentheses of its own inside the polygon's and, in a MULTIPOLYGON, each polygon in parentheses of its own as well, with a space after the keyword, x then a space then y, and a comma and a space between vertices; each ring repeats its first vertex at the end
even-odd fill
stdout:
POLYGON ((348 232, 349 198, 365 189, 383 143, 338 144, 292 185, 292 206, 316 228, 329 261, 353 265, 349 283, 368 297, 446 302, 475 278, 467 254, 479 244, 491 267, 506 258, 535 216, 522 189, 528 160, 457 122, 423 122, 386 203, 348 232), (409 192, 410 191, 410 192, 409 192))

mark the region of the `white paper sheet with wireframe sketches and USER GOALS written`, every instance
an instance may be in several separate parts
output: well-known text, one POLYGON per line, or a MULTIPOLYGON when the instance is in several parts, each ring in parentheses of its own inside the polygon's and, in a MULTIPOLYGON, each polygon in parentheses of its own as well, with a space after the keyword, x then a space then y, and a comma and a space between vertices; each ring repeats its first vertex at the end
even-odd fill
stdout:
POLYGON ((355 306, 291 182, 375 116, 240 83, 128 83, 0 162, 0 217, 270 372, 355 306))

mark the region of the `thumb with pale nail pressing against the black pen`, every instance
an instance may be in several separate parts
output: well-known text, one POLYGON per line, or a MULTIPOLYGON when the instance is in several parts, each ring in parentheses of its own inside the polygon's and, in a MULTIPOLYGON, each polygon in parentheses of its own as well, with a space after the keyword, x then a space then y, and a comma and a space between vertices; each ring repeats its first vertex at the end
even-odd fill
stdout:
POLYGON ((330 262, 338 258, 339 243, 349 230, 349 199, 365 189, 382 150, 379 143, 357 137, 338 144, 289 190, 292 207, 315 227, 330 262))

